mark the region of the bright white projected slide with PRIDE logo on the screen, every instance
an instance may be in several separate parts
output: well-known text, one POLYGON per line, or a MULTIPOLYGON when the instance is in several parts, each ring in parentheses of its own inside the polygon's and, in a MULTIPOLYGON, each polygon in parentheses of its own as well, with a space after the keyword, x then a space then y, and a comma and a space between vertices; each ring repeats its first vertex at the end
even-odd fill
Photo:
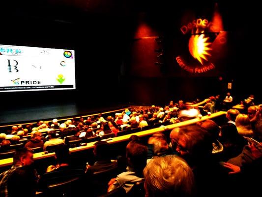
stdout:
POLYGON ((0 92, 76 89, 75 52, 0 45, 0 92))

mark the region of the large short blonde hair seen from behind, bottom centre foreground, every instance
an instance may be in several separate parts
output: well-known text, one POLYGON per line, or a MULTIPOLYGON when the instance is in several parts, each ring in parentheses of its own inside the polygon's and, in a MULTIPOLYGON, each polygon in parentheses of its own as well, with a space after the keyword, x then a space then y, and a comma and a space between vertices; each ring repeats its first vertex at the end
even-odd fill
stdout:
POLYGON ((177 156, 155 157, 144 169, 148 197, 191 196, 194 176, 191 168, 177 156))

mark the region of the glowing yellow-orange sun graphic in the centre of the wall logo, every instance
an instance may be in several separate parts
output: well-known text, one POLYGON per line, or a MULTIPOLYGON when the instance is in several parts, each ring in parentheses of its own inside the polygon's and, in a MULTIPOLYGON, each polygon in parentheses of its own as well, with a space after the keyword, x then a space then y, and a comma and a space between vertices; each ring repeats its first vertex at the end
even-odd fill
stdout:
MULTIPOLYGON (((198 31, 196 32, 198 33, 198 31)), ((209 37, 204 37, 204 32, 201 34, 192 35, 188 42, 188 48, 191 55, 203 65, 203 59, 207 61, 206 56, 211 56, 208 51, 211 42, 207 42, 209 37)))

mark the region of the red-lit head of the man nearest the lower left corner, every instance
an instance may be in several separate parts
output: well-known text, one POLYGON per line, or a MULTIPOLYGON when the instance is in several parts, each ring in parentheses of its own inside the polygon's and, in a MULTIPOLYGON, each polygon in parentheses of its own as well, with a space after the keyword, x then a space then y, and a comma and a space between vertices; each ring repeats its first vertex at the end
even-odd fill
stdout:
POLYGON ((27 148, 17 149, 14 153, 13 164, 28 166, 33 163, 33 153, 27 148))

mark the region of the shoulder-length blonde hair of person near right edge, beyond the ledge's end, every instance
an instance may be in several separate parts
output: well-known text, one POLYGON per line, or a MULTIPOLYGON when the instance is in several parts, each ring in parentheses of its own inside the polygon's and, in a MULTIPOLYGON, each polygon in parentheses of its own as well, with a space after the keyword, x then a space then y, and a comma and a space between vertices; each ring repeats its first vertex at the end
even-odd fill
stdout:
POLYGON ((238 114, 235 119, 235 126, 240 135, 252 136, 251 123, 248 115, 238 114))

